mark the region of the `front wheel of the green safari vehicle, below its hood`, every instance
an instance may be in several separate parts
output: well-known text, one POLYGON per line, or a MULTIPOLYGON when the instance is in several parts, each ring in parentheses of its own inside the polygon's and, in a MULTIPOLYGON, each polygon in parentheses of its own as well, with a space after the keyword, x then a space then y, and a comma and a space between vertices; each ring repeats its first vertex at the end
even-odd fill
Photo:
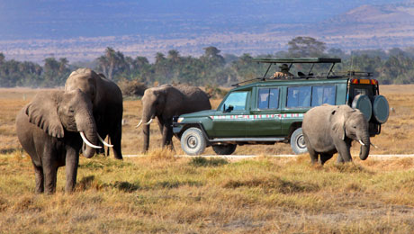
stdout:
POLYGON ((206 141, 200 129, 189 128, 181 136, 181 148, 187 155, 201 155, 205 146, 206 141))

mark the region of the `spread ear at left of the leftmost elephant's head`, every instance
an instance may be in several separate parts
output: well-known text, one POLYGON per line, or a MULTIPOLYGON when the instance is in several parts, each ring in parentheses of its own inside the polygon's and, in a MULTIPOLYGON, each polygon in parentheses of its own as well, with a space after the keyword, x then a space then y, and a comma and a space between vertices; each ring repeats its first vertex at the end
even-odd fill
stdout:
POLYGON ((58 100, 61 91, 49 91, 36 94, 26 107, 29 121, 52 137, 63 138, 64 130, 58 117, 58 100))

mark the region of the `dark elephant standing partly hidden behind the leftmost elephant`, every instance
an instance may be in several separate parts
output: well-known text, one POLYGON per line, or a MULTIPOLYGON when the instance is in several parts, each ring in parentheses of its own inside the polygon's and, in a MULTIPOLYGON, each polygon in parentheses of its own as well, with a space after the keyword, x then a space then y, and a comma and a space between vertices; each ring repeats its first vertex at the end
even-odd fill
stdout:
POLYGON ((67 77, 65 91, 80 89, 92 101, 94 120, 99 135, 109 135, 113 145, 113 156, 122 159, 122 93, 118 85, 103 74, 97 74, 89 68, 78 68, 67 77))

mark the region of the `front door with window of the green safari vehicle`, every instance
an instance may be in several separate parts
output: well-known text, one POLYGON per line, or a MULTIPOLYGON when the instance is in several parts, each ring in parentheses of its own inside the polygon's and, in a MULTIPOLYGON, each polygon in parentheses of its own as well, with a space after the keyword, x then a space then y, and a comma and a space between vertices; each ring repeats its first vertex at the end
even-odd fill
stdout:
POLYGON ((246 136, 247 101, 250 91, 234 91, 220 103, 213 116, 214 138, 242 138, 246 136))

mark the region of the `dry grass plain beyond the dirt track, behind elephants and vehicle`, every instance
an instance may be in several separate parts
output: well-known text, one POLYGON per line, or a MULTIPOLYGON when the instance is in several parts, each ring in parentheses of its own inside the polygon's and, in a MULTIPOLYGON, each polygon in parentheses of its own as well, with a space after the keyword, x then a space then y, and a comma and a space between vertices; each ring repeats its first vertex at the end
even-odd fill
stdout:
MULTIPOLYGON (((25 103, 39 90, 32 89, 0 89, 0 153, 13 151, 20 145, 15 138, 14 117, 25 103), (23 97, 26 100, 23 100, 23 97)), ((372 141, 379 148, 372 148, 371 154, 414 154, 411 142, 414 137, 414 85, 383 85, 381 94, 385 95, 394 112, 391 112, 387 123, 383 125, 382 134, 372 141)), ((212 100, 211 105, 216 108, 220 100, 212 100)), ((142 149, 141 129, 135 129, 141 116, 142 103, 140 100, 124 101, 122 127, 122 153, 125 155, 139 154, 142 149)), ((154 121, 156 122, 156 121, 154 121)), ((175 154, 184 154, 180 142, 173 139, 175 154)), ((151 124, 150 150, 157 150, 161 145, 161 134, 157 123, 151 124)), ((359 148, 353 150, 357 154, 359 148)), ((211 148, 207 148, 205 155, 213 155, 211 148)), ((236 149, 236 155, 277 155, 292 154, 289 144, 276 144, 270 146, 242 146, 236 149)))

